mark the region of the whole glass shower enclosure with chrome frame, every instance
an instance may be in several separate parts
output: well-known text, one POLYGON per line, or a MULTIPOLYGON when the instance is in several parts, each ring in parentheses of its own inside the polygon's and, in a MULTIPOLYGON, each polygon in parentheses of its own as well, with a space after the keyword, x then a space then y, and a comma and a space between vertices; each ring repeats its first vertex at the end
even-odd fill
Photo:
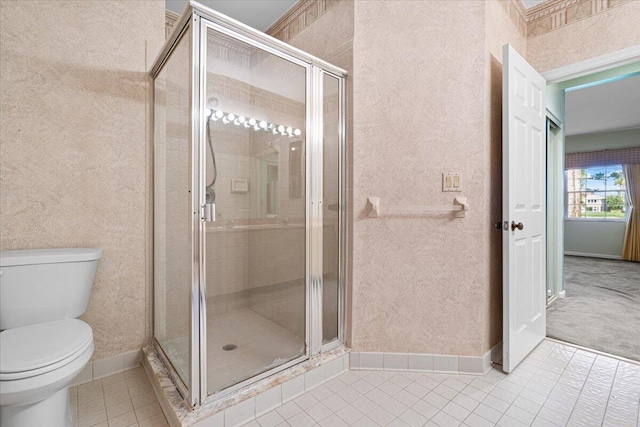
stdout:
POLYGON ((197 406, 344 341, 346 72, 192 2, 150 73, 154 343, 197 406))

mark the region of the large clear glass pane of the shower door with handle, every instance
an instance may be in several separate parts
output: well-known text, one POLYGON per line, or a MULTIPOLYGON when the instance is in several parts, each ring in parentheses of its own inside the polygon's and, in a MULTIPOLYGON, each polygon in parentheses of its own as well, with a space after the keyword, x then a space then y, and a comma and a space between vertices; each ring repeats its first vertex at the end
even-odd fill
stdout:
MULTIPOLYGON (((306 355, 308 66, 208 28, 208 394, 306 355)), ((203 37, 204 38, 204 37, 203 37)))

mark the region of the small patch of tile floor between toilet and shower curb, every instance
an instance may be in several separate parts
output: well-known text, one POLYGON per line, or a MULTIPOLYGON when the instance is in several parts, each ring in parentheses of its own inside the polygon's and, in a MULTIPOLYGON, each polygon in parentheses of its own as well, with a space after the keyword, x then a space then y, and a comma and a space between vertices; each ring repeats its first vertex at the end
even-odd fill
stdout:
POLYGON ((74 427, 163 427, 167 420, 142 367, 71 387, 74 427))

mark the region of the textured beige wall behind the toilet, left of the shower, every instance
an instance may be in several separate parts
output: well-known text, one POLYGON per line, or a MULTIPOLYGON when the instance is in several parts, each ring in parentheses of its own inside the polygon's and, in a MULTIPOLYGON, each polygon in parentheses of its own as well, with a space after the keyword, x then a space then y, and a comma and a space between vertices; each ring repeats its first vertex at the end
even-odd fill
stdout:
MULTIPOLYGON (((104 250, 94 360, 146 340, 146 69, 164 2, 2 1, 0 247, 104 250)), ((148 329, 147 329, 148 331, 148 329)))

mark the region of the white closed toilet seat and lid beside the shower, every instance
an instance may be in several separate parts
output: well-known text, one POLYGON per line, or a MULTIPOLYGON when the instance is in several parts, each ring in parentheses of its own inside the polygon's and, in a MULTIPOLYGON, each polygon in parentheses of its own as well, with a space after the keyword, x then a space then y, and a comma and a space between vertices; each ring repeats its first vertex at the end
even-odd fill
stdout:
POLYGON ((78 319, 39 323, 0 332, 0 381, 58 369, 93 345, 89 325, 78 319))

